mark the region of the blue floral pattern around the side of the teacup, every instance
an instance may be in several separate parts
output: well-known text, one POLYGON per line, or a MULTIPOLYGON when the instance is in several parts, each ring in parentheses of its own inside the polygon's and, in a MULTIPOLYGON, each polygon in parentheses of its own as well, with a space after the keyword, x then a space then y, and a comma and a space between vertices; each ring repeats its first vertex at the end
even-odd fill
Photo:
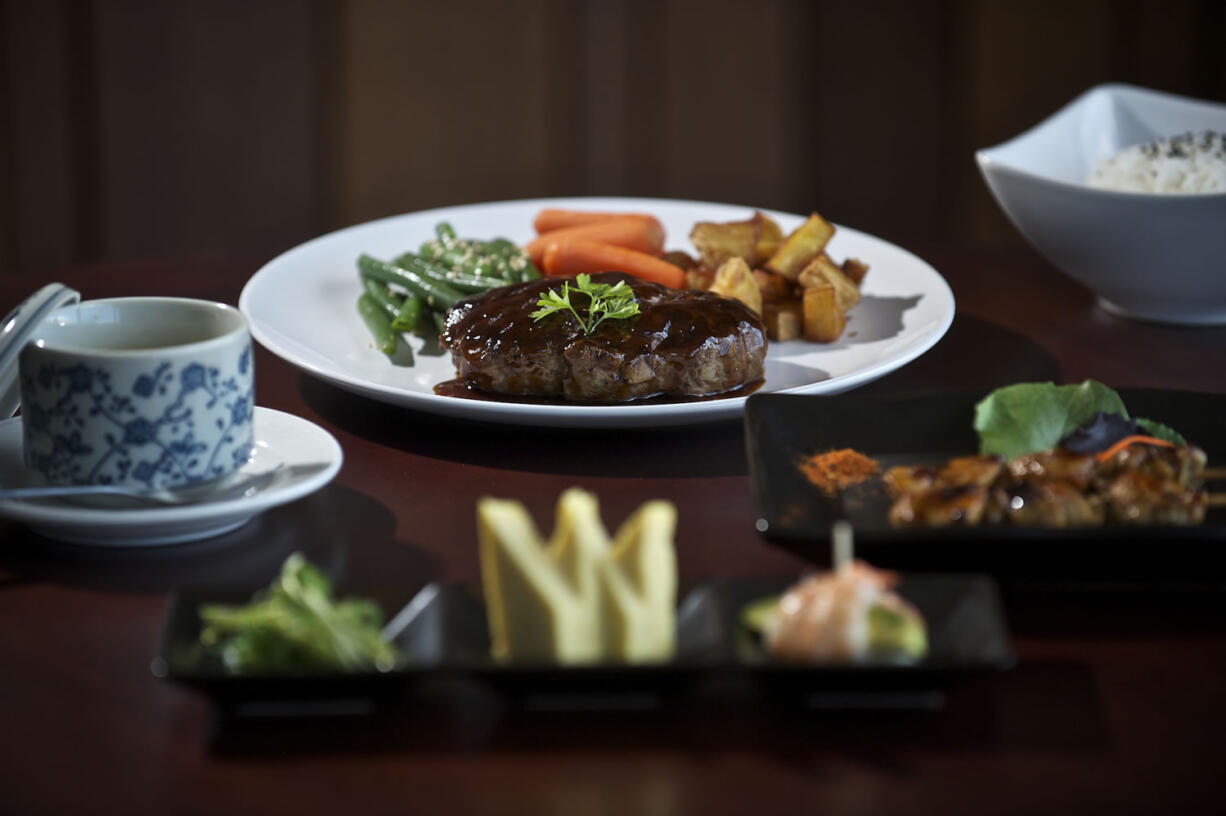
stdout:
POLYGON ((26 466, 53 484, 222 477, 251 453, 251 380, 250 343, 230 366, 162 360, 125 382, 103 368, 44 361, 22 377, 26 466))

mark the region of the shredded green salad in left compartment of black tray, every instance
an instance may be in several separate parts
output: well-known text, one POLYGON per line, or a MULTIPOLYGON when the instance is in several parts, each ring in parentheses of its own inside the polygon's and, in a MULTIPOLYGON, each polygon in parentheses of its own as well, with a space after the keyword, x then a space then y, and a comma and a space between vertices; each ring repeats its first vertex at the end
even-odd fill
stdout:
POLYGON ((202 604, 200 643, 235 674, 297 670, 387 671, 395 647, 383 613, 364 598, 332 599, 332 583, 300 554, 248 604, 202 604))

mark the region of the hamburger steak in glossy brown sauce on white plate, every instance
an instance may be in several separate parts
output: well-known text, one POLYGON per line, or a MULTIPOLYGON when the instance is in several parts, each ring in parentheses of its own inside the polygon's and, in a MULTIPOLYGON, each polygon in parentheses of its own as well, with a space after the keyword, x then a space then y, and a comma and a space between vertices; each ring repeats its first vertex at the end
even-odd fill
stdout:
MULTIPOLYGON (((569 312, 533 320, 541 295, 562 287, 558 278, 457 303, 441 334, 457 377, 494 393, 582 402, 715 396, 763 379, 766 332, 739 300, 620 272, 601 272, 592 281, 625 281, 640 314, 607 320, 586 337, 569 312)), ((587 298, 573 293, 571 303, 582 312, 587 298)))

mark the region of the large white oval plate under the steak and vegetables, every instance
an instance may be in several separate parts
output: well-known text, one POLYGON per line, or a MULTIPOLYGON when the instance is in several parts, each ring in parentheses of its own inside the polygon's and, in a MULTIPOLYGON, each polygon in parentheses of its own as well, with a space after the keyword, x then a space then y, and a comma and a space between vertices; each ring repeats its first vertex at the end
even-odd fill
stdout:
MULTIPOLYGON (((391 259, 417 250, 447 221, 462 238, 495 236, 524 243, 543 207, 647 212, 663 223, 668 247, 693 251, 698 221, 738 221, 752 207, 660 198, 536 198, 427 210, 373 221, 297 246, 256 272, 239 298, 255 338, 277 357, 342 388, 432 413, 498 423, 620 428, 689 424, 741 417, 745 397, 623 406, 531 404, 440 397, 434 386, 455 377, 450 355, 421 353, 395 366, 375 350, 357 314, 362 252, 391 259)), ((803 217, 767 212, 785 232, 803 217)), ((839 393, 910 363, 940 339, 954 320, 954 295, 931 266, 888 241, 840 227, 829 247, 836 260, 869 265, 863 299, 848 312, 836 343, 771 343, 761 392, 839 393)))

